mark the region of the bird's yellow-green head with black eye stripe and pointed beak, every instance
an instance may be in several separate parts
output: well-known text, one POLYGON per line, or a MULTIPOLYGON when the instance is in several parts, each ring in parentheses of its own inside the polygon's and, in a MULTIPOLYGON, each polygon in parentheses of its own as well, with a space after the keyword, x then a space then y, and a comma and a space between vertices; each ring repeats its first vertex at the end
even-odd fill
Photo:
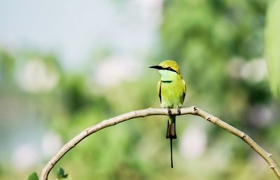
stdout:
POLYGON ((174 60, 165 60, 160 62, 158 66, 153 66, 150 68, 158 69, 163 80, 170 79, 172 76, 181 75, 179 65, 174 60))

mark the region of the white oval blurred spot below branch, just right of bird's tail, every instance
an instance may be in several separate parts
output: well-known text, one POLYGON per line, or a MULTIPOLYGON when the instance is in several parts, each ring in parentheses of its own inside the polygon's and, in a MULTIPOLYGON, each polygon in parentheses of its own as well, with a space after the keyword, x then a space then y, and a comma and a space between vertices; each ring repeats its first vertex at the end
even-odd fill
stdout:
POLYGON ((180 141, 180 151, 185 158, 198 158, 207 146, 207 135, 204 128, 196 125, 189 127, 183 133, 180 141))

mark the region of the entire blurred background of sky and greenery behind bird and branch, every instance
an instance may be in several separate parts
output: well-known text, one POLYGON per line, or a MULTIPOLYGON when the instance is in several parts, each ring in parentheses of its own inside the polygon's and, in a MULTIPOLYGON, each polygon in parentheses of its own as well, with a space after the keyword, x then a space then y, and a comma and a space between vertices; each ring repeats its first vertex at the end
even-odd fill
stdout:
MULTIPOLYGON (((179 62, 184 106, 246 132, 280 162, 279 101, 269 89, 265 0, 0 1, 0 179, 27 179, 101 120, 159 107, 160 75, 179 62)), ((177 118, 174 169, 166 116, 97 132, 54 167, 73 179, 276 179, 244 141, 177 118)))

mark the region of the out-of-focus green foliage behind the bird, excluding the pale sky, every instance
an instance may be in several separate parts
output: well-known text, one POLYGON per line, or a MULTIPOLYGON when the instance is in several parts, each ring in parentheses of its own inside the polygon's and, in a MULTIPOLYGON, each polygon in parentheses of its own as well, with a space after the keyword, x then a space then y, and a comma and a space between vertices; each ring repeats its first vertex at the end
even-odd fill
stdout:
MULTIPOLYGON (((42 131, 56 132, 65 143, 103 119, 159 106, 159 76, 148 67, 174 59, 187 83, 185 106, 199 106, 235 125, 280 160, 276 151, 280 149, 279 104, 271 97, 267 76, 259 76, 264 62, 266 8, 265 0, 164 1, 161 53, 156 60, 144 62, 147 69, 142 69, 141 78, 110 88, 92 83, 86 68, 80 73, 64 71, 55 55, 0 50, 1 118, 7 120, 0 127, 1 138, 8 136, 8 127, 16 126, 7 124, 20 119, 26 120, 30 132, 43 124, 39 126, 42 131), (28 64, 27 69, 33 68, 34 63, 47 71, 46 82, 55 82, 54 86, 41 81, 31 89, 20 85, 20 79, 25 78, 21 69, 28 64), (13 116, 5 116, 7 109, 13 109, 13 116)), ((96 64, 89 66, 95 68, 96 64)), ((276 179, 265 161, 240 139, 193 116, 178 117, 179 139, 174 142, 171 169, 165 119, 130 120, 97 132, 69 151, 55 169, 64 167, 73 179, 276 179), (193 127, 206 136, 206 147, 199 156, 186 157, 181 150, 184 134, 193 127)), ((198 137, 196 141, 200 141, 198 137)), ((49 158, 34 169, 39 172, 49 158)), ((29 174, 27 170, 15 173, 10 170, 13 168, 0 162, 0 178, 20 179, 29 174)), ((55 179, 55 170, 50 179, 55 179)))

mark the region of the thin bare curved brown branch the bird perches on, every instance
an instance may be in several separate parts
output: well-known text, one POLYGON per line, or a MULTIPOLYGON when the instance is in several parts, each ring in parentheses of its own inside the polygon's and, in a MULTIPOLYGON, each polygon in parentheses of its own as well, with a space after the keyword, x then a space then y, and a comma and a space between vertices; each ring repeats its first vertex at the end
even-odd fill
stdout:
MULTIPOLYGON (((267 153, 260 145, 258 145, 251 137, 249 137, 247 134, 242 132, 241 130, 238 130, 237 128, 233 127, 232 125, 229 125, 228 123, 225 123, 223 120, 216 118, 215 116, 211 115, 210 113, 207 113, 206 111, 203 111, 202 109, 198 109, 195 106, 182 108, 181 113, 179 114, 177 109, 171 109, 171 112, 173 115, 180 116, 183 114, 192 114, 196 116, 200 116, 204 118, 205 120, 210 121, 211 123, 214 123, 218 127, 223 128, 224 130, 234 134, 237 137, 240 137, 243 139, 248 146, 251 146, 253 150, 255 150, 269 165, 269 167, 274 171, 276 176, 280 179, 280 169, 279 166, 276 164, 276 162, 272 159, 272 154, 267 153)), ((120 116, 116 116, 114 118, 110 118, 108 120, 103 120, 102 122, 92 125, 91 127, 88 127, 87 129, 80 132, 76 137, 73 137, 70 141, 68 141, 62 148, 48 161, 48 163, 43 167, 40 180, 47 180, 48 174, 50 173, 50 170, 52 167, 55 166, 55 164, 60 160, 60 158, 63 157, 68 151, 71 150, 74 146, 76 146, 80 141, 85 139, 90 134, 93 134, 94 132, 97 132, 99 130, 102 130, 106 127, 116 125, 118 123, 122 123, 126 120, 130 120, 132 118, 139 118, 139 117, 146 117, 146 116, 152 116, 152 115, 169 115, 169 112, 167 109, 142 109, 138 111, 131 111, 129 113, 124 113, 120 116)))

